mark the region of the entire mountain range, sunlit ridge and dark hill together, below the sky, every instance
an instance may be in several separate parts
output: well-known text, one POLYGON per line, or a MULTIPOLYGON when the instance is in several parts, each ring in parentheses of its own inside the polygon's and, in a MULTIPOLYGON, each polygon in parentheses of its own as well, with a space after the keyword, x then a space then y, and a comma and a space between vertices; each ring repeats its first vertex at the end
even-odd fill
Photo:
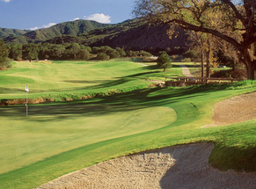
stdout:
POLYGON ((139 18, 118 24, 101 24, 96 21, 76 20, 53 25, 40 30, 15 30, 0 28, 0 38, 5 43, 79 43, 87 46, 123 47, 126 50, 173 53, 188 49, 188 35, 178 29, 177 37, 170 40, 167 25, 151 25, 139 18))

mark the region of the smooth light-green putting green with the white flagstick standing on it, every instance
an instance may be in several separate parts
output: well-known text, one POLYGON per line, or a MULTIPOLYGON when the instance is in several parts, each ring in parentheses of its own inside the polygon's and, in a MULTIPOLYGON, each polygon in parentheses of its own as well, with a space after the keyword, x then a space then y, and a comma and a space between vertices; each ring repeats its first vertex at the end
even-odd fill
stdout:
POLYGON ((81 146, 165 127, 177 117, 168 107, 86 103, 30 106, 28 118, 24 110, 0 109, 0 174, 81 146))

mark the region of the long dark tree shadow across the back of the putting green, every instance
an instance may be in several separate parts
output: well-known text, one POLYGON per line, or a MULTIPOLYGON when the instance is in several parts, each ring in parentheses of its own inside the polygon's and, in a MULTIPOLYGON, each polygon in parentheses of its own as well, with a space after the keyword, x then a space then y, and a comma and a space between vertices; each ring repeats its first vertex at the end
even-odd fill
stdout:
MULTIPOLYGON (((170 105, 175 102, 188 100, 188 98, 201 97, 206 94, 205 92, 195 92, 196 91, 193 90, 181 89, 173 91, 153 88, 101 97, 101 101, 83 100, 65 102, 65 104, 29 105, 29 118, 31 120, 50 121, 79 116, 101 116, 149 107, 170 105), (152 95, 152 93, 155 93, 155 95, 152 95), (45 119, 45 117, 47 117, 47 119, 45 119)), ((0 115, 17 119, 26 118, 24 117, 26 115, 26 107, 20 105, 0 108, 0 115)))

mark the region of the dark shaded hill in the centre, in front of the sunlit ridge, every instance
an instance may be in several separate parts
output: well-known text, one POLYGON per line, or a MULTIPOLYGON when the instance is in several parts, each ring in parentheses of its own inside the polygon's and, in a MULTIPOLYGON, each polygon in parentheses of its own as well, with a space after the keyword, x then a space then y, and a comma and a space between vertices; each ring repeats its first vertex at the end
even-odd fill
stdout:
POLYGON ((172 40, 166 34, 167 25, 152 25, 135 18, 106 28, 98 28, 79 36, 59 36, 46 41, 52 44, 79 43, 88 46, 124 47, 126 50, 158 52, 167 50, 179 53, 186 50, 188 37, 185 31, 177 30, 172 40))

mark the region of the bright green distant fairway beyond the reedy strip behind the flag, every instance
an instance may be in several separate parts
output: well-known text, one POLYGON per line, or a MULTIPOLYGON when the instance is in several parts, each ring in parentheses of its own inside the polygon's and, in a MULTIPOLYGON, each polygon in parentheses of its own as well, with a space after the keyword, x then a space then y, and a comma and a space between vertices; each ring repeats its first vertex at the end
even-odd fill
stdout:
MULTIPOLYGON (((47 95, 76 96, 118 91, 132 91, 149 85, 143 79, 164 80, 166 75, 181 76, 177 66, 163 73, 157 66, 142 66, 130 59, 106 62, 56 61, 17 62, 13 69, 0 72, 0 100, 26 98, 24 87, 29 85, 29 98, 47 95)), ((78 97, 77 97, 78 98, 78 97)))

